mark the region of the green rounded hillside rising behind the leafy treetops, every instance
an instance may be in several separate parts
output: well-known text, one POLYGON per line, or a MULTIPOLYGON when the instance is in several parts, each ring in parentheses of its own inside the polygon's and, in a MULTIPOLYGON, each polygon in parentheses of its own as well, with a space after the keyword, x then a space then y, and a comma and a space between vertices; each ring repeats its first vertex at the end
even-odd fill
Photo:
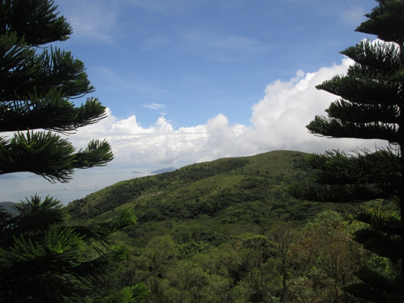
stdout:
POLYGON ((74 220, 108 219, 115 211, 133 209, 139 220, 128 233, 143 239, 143 245, 156 234, 176 234, 182 225, 226 235, 268 229, 279 220, 298 222, 342 207, 299 201, 285 193, 290 182, 309 177, 307 156, 276 150, 188 165, 119 182, 73 201, 68 208, 74 220))

